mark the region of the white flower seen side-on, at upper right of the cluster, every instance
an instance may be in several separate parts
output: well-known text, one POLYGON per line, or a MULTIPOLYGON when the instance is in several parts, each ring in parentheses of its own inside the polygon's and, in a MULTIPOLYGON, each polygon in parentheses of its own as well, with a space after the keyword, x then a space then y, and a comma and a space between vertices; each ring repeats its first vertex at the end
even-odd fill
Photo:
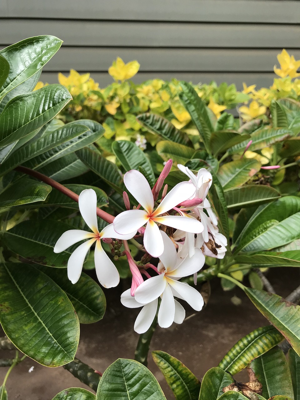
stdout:
MULTIPOLYGON (((208 213, 208 216, 211 218, 211 221, 214 225, 218 224, 218 220, 211 209, 210 203, 207 200, 206 196, 208 194, 208 190, 210 186, 212 186, 212 174, 208 172, 205 168, 200 168, 197 175, 194 175, 192 171, 188 168, 183 166, 182 164, 177 164, 178 168, 181 172, 186 174, 190 178, 190 182, 194 184, 196 191, 195 196, 196 198, 201 198, 203 200, 202 204, 196 206, 193 209, 193 212, 200 218, 204 230, 203 230, 203 237, 204 241, 208 242, 208 228, 206 225, 207 215, 204 212, 204 208, 208 213)), ((197 232, 195 232, 197 233, 197 232)))

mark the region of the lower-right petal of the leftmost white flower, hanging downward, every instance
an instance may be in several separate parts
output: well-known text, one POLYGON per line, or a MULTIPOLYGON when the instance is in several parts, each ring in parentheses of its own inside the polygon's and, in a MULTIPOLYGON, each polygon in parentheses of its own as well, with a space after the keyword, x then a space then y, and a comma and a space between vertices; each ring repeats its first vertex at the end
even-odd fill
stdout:
POLYGON ((119 272, 106 252, 102 249, 100 240, 95 247, 95 267, 98 281, 104 288, 114 288, 120 282, 119 272))

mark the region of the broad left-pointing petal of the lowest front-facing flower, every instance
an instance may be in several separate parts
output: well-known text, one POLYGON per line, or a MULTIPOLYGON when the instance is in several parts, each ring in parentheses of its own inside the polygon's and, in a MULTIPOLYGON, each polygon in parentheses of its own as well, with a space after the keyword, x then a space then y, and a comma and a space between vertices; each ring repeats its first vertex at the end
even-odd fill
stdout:
POLYGON ((148 278, 144 283, 140 284, 134 293, 136 301, 147 304, 157 299, 166 287, 167 281, 164 274, 148 278))

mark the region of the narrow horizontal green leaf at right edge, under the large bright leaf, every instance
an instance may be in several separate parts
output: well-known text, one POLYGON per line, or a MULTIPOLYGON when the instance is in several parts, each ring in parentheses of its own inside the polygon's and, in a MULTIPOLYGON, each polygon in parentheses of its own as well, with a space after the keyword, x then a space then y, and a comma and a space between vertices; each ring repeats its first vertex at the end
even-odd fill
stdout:
POLYGON ((253 268, 300 267, 299 250, 286 252, 259 252, 256 254, 238 254, 234 257, 238 264, 249 264, 253 268))

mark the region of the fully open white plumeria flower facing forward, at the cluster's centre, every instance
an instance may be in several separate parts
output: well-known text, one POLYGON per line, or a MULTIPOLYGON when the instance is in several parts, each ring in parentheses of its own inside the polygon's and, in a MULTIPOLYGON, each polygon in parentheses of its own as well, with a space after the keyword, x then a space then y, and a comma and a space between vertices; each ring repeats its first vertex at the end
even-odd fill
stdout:
POLYGON ((190 182, 180 182, 164 197, 154 210, 153 194, 148 181, 139 171, 131 170, 124 175, 124 184, 128 191, 136 198, 144 210, 128 210, 121 212, 114 219, 114 229, 119 234, 129 234, 137 231, 146 224, 144 232, 144 247, 147 252, 158 257, 164 251, 164 242, 156 223, 182 229, 186 232, 199 233, 203 226, 198 220, 188 216, 162 214, 171 210, 177 204, 192 197, 195 187, 190 182))

